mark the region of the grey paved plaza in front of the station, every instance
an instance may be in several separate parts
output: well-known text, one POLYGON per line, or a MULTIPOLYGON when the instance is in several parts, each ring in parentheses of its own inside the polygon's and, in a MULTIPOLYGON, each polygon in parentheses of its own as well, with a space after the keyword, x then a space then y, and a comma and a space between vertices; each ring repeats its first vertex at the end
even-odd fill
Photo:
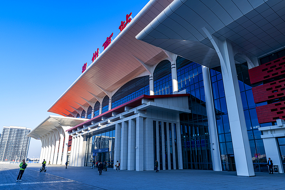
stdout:
POLYGON ((237 177, 236 172, 208 170, 161 170, 116 172, 97 169, 28 164, 21 182, 15 182, 19 164, 0 164, 0 189, 285 189, 285 174, 256 172, 256 177, 237 177))

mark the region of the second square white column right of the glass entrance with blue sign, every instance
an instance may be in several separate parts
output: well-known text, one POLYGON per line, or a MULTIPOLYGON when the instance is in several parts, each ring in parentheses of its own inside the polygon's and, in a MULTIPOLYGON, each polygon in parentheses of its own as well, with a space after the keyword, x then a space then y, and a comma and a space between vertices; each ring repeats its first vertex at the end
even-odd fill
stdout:
POLYGON ((120 169, 128 169, 128 122, 122 122, 120 169))

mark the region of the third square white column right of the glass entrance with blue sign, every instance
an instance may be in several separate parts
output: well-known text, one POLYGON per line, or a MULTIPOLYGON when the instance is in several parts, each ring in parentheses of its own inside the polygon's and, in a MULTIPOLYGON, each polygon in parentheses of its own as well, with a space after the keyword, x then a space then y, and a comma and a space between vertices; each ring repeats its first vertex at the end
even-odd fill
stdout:
POLYGON ((129 120, 128 132, 128 170, 135 170, 136 165, 136 126, 135 120, 129 120))

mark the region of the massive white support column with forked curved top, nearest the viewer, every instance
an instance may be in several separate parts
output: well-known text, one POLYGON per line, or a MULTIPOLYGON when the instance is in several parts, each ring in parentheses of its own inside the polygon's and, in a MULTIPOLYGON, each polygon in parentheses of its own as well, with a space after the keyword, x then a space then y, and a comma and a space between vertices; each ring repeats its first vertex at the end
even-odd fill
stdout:
POLYGON ((212 36, 206 28, 203 31, 213 44, 221 63, 237 175, 255 176, 232 44, 212 36))

